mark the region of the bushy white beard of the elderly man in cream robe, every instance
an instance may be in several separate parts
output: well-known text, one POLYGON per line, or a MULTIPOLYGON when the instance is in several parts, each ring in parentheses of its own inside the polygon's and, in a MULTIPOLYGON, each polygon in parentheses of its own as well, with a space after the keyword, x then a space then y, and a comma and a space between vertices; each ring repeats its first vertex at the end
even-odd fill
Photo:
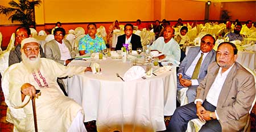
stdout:
POLYGON ((38 72, 40 70, 40 67, 41 67, 40 57, 41 57, 40 54, 38 54, 37 57, 35 55, 27 57, 26 54, 22 52, 22 62, 24 63, 24 66, 26 67, 29 73, 38 72), (30 57, 35 57, 35 58, 30 59, 30 57))

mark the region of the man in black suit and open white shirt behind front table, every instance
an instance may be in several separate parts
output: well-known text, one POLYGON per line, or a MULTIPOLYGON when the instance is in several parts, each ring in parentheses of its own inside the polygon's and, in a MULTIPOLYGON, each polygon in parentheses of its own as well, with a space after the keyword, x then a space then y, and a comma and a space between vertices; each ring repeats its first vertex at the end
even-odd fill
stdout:
POLYGON ((125 24, 125 34, 117 37, 117 45, 115 50, 121 50, 123 44, 131 43, 131 48, 137 50, 142 48, 141 37, 133 33, 133 25, 130 23, 125 24))

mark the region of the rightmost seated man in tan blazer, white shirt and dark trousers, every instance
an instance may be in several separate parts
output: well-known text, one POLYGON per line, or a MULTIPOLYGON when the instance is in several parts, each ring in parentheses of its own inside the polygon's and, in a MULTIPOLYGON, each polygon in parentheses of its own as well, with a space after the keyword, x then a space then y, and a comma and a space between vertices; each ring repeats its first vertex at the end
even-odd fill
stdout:
POLYGON ((255 81, 236 59, 236 45, 218 45, 217 62, 209 65, 207 76, 197 88, 195 103, 177 108, 167 131, 185 131, 194 118, 206 121, 200 131, 250 131, 255 81))

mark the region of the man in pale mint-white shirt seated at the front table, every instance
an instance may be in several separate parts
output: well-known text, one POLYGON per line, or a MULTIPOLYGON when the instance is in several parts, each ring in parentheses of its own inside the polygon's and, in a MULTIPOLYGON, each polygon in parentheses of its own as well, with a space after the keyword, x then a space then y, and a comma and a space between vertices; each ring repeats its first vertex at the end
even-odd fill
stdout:
POLYGON ((151 50, 158 50, 163 54, 166 54, 167 58, 180 61, 180 46, 174 40, 174 28, 167 26, 163 29, 163 37, 158 37, 150 46, 151 50))

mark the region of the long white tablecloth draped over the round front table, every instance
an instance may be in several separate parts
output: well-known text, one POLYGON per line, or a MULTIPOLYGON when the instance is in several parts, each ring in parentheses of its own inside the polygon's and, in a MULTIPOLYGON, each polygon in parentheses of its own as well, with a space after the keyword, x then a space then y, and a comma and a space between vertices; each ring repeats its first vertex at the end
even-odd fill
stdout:
POLYGON ((87 72, 68 79, 68 96, 85 112, 85 122, 97 120, 98 131, 162 131, 164 115, 176 109, 176 70, 122 82, 130 63, 98 61, 101 74, 87 72))

